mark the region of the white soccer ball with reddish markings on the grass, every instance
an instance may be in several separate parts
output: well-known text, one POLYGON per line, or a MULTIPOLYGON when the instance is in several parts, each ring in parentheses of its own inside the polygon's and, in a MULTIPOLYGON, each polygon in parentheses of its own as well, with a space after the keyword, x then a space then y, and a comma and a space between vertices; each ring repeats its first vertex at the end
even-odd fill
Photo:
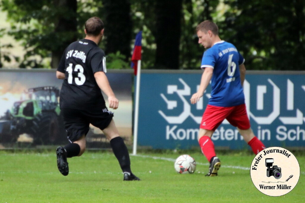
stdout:
POLYGON ((181 174, 194 173, 196 170, 196 162, 190 155, 185 154, 176 159, 174 167, 175 170, 181 174))

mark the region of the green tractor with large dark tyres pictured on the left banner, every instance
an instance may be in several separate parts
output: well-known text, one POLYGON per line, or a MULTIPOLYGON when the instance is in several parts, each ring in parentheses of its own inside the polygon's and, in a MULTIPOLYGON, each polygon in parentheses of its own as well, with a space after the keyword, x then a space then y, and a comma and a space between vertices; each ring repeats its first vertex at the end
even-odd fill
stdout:
POLYGON ((20 101, 13 103, 0 118, 0 138, 14 142, 20 135, 33 144, 55 144, 65 136, 59 109, 59 89, 45 86, 24 91, 20 101))

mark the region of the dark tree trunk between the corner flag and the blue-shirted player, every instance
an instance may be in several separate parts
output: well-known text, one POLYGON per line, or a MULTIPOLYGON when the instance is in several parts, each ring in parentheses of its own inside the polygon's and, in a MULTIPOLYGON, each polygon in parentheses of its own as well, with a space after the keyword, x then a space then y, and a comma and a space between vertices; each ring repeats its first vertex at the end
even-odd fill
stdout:
POLYGON ((156 1, 156 69, 179 69, 182 0, 156 1))

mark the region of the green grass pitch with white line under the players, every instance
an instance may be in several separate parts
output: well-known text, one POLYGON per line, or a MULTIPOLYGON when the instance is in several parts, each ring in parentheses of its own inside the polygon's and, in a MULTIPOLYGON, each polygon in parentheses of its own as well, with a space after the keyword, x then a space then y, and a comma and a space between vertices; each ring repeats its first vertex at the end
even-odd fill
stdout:
POLYGON ((52 152, 0 151, 0 202, 304 202, 305 156, 296 155, 300 179, 286 195, 270 197, 253 185, 249 168, 254 155, 219 154, 219 176, 205 177, 206 158, 191 153, 194 174, 178 174, 174 160, 185 153, 139 153, 131 156, 131 169, 142 181, 124 181, 111 152, 86 151, 68 159, 70 173, 63 176, 52 152))

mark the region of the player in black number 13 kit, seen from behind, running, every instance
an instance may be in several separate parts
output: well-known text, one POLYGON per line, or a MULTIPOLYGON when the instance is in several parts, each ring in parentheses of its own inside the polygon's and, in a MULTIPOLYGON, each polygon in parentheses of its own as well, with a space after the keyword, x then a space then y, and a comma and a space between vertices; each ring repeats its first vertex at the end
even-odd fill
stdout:
POLYGON ((101 90, 108 96, 109 108, 117 109, 115 97, 106 73, 105 53, 98 44, 104 34, 104 23, 92 17, 85 23, 86 37, 70 44, 56 72, 63 79, 60 91, 60 109, 70 141, 56 149, 57 166, 64 176, 68 175, 67 158, 81 156, 86 149, 89 124, 100 128, 110 141, 113 153, 124 173, 123 180, 140 180, 130 169, 127 147, 112 119, 113 113, 106 108, 101 90))

